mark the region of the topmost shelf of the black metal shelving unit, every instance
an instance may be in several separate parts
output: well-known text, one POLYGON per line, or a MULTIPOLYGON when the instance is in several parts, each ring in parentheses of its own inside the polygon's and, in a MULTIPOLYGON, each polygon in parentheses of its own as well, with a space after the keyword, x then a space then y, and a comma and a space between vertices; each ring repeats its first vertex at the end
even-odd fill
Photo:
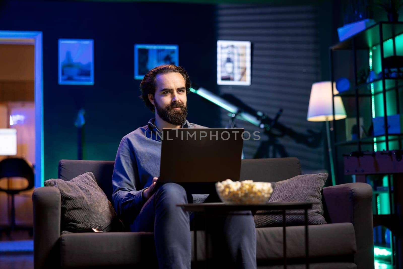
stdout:
POLYGON ((331 46, 330 50, 351 50, 353 48, 353 40, 355 40, 356 50, 366 50, 380 43, 379 29, 382 27, 383 41, 393 36, 403 33, 403 22, 389 23, 380 22, 368 27, 367 29, 353 35, 338 44, 331 46))

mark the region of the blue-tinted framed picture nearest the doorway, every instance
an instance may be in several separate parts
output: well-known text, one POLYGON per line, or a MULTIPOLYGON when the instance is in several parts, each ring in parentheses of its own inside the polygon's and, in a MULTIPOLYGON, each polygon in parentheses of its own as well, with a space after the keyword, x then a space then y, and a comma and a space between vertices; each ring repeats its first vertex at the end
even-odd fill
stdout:
POLYGON ((59 84, 94 84, 92 39, 59 39, 59 84))

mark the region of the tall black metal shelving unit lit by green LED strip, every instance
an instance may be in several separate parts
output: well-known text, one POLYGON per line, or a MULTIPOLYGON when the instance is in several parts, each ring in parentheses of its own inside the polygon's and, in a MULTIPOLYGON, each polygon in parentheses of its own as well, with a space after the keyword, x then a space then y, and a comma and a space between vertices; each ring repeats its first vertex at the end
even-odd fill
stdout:
MULTIPOLYGON (((355 178, 360 177, 361 182, 372 184, 374 188, 374 226, 384 225, 384 227, 388 227, 388 225, 392 227, 393 223, 396 223, 397 211, 395 205, 397 204, 397 197, 394 195, 396 190, 394 190, 393 186, 396 187, 395 180, 401 177, 394 174, 397 172, 393 171, 390 174, 379 173, 375 175, 375 173, 372 173, 372 175, 364 175, 364 177, 363 175, 351 177, 352 174, 359 174, 360 171, 358 173, 351 173, 351 170, 345 171, 345 158, 343 158, 343 155, 346 156, 350 152, 355 152, 350 155, 353 156, 350 158, 360 158, 359 156, 362 156, 362 154, 370 155, 381 150, 402 149, 403 131, 400 129, 398 133, 390 133, 388 130, 388 117, 396 114, 400 115, 403 108, 403 70, 399 71, 397 69, 393 76, 391 70, 385 70, 388 63, 385 58, 394 56, 403 56, 402 22, 376 23, 351 38, 330 47, 331 81, 335 81, 339 77, 347 77, 351 81, 349 90, 333 94, 333 96, 341 96, 346 107, 347 117, 349 117, 349 114, 350 117, 353 116, 357 125, 357 138, 347 140, 347 134, 345 135, 345 133, 349 130, 345 126, 343 132, 342 124, 345 123, 344 120, 343 122, 332 121, 332 147, 336 180, 340 184, 355 181, 355 178), (377 78, 363 82, 363 79, 359 77, 359 73, 362 73, 360 71, 366 68, 370 72, 374 72, 377 78), (371 126, 372 130, 374 129, 373 119, 375 117, 383 117, 384 131, 381 135, 374 135, 369 131, 371 126), (368 130, 367 133, 364 132, 365 135, 362 137, 360 119, 363 129, 368 130), (364 153, 365 151, 369 152, 364 153)), ((400 120, 403 120, 403 117, 400 117, 400 120)), ((402 123, 401 126, 403 126, 402 123)), ((359 159, 357 161, 359 163, 359 159)), ((401 165, 403 165, 403 161, 401 165)), ((380 226, 378 227, 379 229, 377 229, 381 231, 380 226)), ((377 233, 379 234, 378 230, 377 233)), ((384 231, 384 228, 382 231, 384 231)), ((391 238, 391 263, 399 266, 399 263, 400 265, 402 264, 402 257, 400 256, 400 261, 395 259, 402 254, 396 253, 395 237, 391 236, 391 238)), ((384 242, 378 243, 382 245, 384 242)), ((398 244, 400 243, 399 241, 398 244)), ((399 250, 400 248, 398 247, 397 249, 399 250)))

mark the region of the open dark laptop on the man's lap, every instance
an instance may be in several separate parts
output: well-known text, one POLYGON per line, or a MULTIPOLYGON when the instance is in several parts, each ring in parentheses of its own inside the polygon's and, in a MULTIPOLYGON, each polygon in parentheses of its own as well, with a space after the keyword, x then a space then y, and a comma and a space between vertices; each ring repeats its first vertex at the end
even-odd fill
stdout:
POLYGON ((243 128, 164 128, 158 183, 175 182, 197 194, 212 191, 218 181, 228 178, 238 181, 243 131, 243 128))

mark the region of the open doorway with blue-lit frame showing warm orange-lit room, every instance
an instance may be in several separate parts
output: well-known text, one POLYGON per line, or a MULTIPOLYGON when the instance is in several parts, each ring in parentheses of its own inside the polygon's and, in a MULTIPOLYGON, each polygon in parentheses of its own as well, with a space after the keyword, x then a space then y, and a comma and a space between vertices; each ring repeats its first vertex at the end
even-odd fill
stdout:
MULTIPOLYGON (((32 165, 34 186, 41 187, 44 181, 42 33, 0 31, 0 56, 0 128, 17 132, 17 150, 12 155, 32 165)), ((0 156, 0 160, 4 158, 7 156, 0 156)), ((26 183, 14 178, 2 180, 1 184, 21 188, 26 183)), ((32 227, 32 192, 33 189, 15 196, 17 227, 32 227)), ((0 225, 8 226, 10 199, 2 192, 0 200, 0 225)), ((17 233, 10 239, 19 240, 19 236, 17 233)))

